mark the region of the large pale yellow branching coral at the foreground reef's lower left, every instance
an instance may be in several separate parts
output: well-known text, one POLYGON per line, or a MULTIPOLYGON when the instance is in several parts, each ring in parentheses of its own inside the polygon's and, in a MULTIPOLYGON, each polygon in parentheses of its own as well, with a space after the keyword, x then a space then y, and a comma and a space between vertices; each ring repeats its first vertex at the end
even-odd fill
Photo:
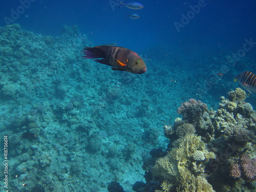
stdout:
MULTIPOLYGON (((173 146, 165 157, 156 161, 152 169, 153 175, 180 184, 180 191, 201 191, 196 185, 197 177, 204 172, 209 158, 215 158, 215 154, 208 152, 201 137, 194 134, 176 140, 173 146), (198 158, 195 158, 195 154, 198 154, 198 158)), ((208 191, 214 190, 211 188, 208 191)))

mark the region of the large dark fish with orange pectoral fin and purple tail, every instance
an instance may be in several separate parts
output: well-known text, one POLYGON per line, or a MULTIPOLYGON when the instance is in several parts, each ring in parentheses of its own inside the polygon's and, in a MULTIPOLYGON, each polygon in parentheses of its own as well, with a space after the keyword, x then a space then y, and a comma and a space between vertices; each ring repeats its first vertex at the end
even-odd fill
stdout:
POLYGON ((143 59, 130 49, 116 46, 97 46, 84 47, 81 52, 82 58, 94 59, 99 63, 112 66, 112 70, 136 74, 146 72, 146 65, 143 59))

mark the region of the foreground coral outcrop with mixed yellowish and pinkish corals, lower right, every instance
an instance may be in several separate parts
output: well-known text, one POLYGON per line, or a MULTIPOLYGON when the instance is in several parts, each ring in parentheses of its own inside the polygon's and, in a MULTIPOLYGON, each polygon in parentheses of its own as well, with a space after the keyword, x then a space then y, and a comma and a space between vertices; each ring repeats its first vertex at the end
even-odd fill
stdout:
POLYGON ((256 125, 251 117, 255 112, 244 102, 243 90, 228 95, 229 99, 221 97, 217 111, 190 99, 177 110, 183 117, 173 126, 164 125, 170 141, 168 154, 150 169, 162 183, 155 184, 155 191, 253 191, 256 125))

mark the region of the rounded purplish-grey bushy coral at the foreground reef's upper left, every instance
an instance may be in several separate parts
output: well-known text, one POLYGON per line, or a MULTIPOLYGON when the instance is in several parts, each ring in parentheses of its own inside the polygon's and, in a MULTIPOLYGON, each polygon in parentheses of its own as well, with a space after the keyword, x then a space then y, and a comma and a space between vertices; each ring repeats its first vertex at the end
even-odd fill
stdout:
POLYGON ((183 115, 183 120, 187 120, 188 123, 196 122, 200 119, 204 112, 208 112, 207 104, 197 101, 196 99, 189 99, 181 104, 177 113, 183 115))

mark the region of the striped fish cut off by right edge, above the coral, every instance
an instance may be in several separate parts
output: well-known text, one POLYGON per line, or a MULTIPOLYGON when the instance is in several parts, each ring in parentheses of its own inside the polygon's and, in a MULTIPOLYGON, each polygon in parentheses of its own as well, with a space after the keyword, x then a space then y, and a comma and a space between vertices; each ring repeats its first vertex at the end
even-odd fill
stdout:
POLYGON ((245 71, 236 76, 236 81, 238 81, 246 91, 256 93, 256 75, 253 73, 245 71))

